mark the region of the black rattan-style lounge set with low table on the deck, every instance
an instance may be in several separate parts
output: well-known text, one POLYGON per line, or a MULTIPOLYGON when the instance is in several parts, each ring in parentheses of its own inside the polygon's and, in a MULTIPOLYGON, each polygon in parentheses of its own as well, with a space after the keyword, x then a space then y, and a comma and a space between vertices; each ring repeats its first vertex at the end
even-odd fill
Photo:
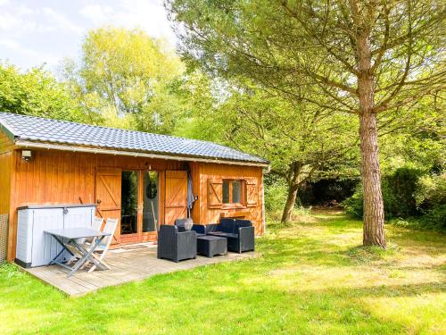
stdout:
POLYGON ((219 224, 193 224, 180 219, 175 225, 161 225, 158 233, 158 258, 179 262, 197 254, 213 257, 227 251, 254 250, 254 227, 248 220, 222 218, 219 224))

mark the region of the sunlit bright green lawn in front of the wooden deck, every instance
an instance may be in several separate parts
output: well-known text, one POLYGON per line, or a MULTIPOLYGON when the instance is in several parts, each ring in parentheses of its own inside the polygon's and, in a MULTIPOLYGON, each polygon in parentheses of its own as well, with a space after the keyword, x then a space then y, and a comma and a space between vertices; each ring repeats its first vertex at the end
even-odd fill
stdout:
MULTIPOLYGON (((269 281, 271 271, 290 265, 299 269, 301 264, 314 266, 316 275, 321 265, 345 271, 350 267, 351 275, 355 275, 360 271, 356 266, 392 255, 382 249, 352 247, 348 241, 336 243, 335 238, 342 241, 340 235, 346 232, 357 233, 360 239, 361 222, 342 214, 321 214, 317 218, 317 222, 268 225, 271 236, 257 240, 257 250, 262 254, 259 258, 157 275, 86 297, 63 297, 13 265, 0 267, 4 333, 20 325, 23 333, 63 333, 70 329, 87 333, 392 334, 407 330, 408 325, 370 314, 361 305, 363 297, 415 297, 440 294, 446 289, 444 283, 434 281, 362 287, 339 287, 327 281, 324 289, 311 289, 305 285, 310 277, 301 272, 292 277, 292 286, 286 287, 286 276, 285 286, 269 281)), ((444 240, 437 237, 417 238, 419 232, 403 229, 390 231, 399 245, 410 247, 413 241, 417 247, 428 248, 434 242, 432 248, 439 251, 433 250, 433 255, 444 252, 444 240)))

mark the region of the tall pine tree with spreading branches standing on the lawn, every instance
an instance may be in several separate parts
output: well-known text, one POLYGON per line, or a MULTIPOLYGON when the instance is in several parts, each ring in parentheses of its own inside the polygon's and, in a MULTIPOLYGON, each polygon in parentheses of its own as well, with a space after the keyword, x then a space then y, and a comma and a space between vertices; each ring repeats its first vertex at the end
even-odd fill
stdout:
MULTIPOLYGON (((357 115, 364 245, 385 247, 377 115, 444 89, 440 1, 168 0, 182 53, 290 101, 357 115), (313 94, 301 95, 301 90, 313 94), (326 97, 329 103, 326 103, 326 97)), ((334 114, 335 115, 335 114, 334 114)))

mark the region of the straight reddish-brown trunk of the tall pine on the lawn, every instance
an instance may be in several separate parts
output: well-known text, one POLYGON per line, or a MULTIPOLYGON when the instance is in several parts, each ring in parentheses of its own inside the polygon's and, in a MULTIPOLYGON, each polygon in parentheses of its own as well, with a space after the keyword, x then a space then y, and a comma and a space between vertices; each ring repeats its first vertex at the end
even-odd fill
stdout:
POLYGON ((364 246, 385 247, 384 204, 381 191, 381 172, 378 157, 378 130, 376 125, 375 79, 371 73, 369 31, 363 29, 357 40, 359 138, 361 178, 364 194, 364 246))

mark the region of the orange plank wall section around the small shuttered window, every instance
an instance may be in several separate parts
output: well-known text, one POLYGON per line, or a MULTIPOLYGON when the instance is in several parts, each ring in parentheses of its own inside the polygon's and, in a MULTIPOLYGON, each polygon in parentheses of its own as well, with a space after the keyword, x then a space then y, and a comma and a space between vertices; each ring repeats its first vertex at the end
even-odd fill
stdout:
POLYGON ((218 223, 221 217, 244 217, 254 224, 256 234, 263 234, 263 192, 262 170, 255 166, 229 165, 219 163, 199 163, 200 197, 194 204, 194 221, 202 223, 218 223), (221 205, 213 208, 208 204, 208 182, 216 179, 256 180, 257 204, 242 206, 221 205), (199 213, 197 213, 199 212, 199 213))

